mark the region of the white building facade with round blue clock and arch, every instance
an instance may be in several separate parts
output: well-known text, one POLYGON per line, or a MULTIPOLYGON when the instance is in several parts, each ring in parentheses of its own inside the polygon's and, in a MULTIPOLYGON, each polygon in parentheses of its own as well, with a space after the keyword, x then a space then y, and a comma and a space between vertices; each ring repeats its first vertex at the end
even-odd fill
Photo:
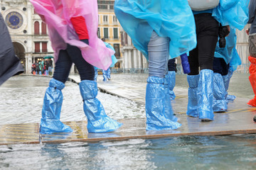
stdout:
POLYGON ((1 0, 1 15, 26 73, 31 73, 33 62, 53 55, 46 23, 34 12, 30 1, 1 0))

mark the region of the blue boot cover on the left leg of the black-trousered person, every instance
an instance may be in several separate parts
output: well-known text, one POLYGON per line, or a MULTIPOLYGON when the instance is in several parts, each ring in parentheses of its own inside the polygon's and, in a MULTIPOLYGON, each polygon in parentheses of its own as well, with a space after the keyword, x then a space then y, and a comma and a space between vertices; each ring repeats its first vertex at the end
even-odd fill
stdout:
POLYGON ((188 75, 188 108, 186 114, 198 118, 198 75, 188 75))

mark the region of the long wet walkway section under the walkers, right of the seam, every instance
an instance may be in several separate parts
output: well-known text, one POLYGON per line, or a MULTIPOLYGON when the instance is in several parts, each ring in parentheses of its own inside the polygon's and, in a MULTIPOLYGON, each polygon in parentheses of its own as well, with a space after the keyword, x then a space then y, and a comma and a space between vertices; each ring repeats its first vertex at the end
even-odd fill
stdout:
POLYGON ((256 109, 242 113, 215 113, 212 122, 201 122, 198 118, 180 115, 183 125, 178 130, 146 131, 145 119, 119 120, 122 128, 115 132, 87 133, 85 121, 65 123, 73 128, 72 133, 41 135, 42 142, 99 142, 106 140, 151 139, 184 135, 233 135, 256 133, 256 123, 252 121, 256 109))

